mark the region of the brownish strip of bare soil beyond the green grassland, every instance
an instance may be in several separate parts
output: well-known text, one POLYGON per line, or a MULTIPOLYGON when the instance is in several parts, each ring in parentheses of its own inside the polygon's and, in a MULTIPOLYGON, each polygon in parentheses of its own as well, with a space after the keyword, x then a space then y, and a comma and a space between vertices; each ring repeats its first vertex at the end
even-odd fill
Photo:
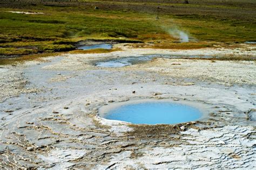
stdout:
MULTIPOLYGON (((247 3, 229 1, 189 1, 190 4, 183 4, 184 1, 138 1, 138 0, 115 0, 113 1, 96 1, 96 2, 77 2, 64 0, 60 1, 1 1, 0 4, 5 8, 21 8, 21 9, 35 9, 40 5, 49 6, 76 6, 82 10, 92 9, 95 6, 102 10, 131 10, 139 12, 147 12, 152 14, 166 14, 166 15, 196 15, 194 17, 220 17, 220 18, 234 18, 245 19, 246 21, 255 22, 255 8, 256 3, 248 1, 247 3), (251 2, 251 3, 250 3, 251 2)), ((192 16, 193 17, 193 16, 192 16)))

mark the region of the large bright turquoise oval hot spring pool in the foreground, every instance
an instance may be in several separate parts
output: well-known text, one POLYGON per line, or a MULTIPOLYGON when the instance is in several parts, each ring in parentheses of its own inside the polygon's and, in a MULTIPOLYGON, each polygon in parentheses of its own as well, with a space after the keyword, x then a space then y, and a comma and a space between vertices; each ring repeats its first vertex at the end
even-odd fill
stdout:
POLYGON ((178 124, 197 120, 202 113, 194 107, 169 102, 146 102, 116 107, 106 113, 106 119, 133 124, 178 124))

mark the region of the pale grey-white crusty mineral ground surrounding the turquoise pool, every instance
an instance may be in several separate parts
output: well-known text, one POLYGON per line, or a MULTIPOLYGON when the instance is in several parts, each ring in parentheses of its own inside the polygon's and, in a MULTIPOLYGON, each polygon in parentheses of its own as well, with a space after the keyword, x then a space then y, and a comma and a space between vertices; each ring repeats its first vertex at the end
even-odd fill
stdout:
POLYGON ((253 46, 122 48, 2 66, 0 167, 256 168, 255 62, 156 58, 119 68, 94 66, 152 54, 256 57, 253 46), (208 117, 155 126, 99 117, 102 106, 139 99, 198 103, 208 117))

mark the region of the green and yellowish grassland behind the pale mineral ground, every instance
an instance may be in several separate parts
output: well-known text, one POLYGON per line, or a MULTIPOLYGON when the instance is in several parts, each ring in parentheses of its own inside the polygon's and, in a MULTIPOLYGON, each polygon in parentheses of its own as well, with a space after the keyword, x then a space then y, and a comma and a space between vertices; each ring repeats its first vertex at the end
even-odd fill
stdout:
MULTIPOLYGON (((232 13, 237 10, 232 9, 224 10, 227 14, 224 13, 221 17, 212 14, 212 8, 218 10, 227 6, 211 7, 208 13, 206 10, 202 14, 193 10, 204 11, 204 5, 190 8, 185 4, 179 4, 181 7, 183 5, 185 9, 187 8, 185 14, 157 12, 156 5, 150 5, 151 8, 156 9, 151 12, 145 11, 142 6, 139 6, 142 8, 141 11, 137 10, 138 6, 131 7, 129 4, 126 6, 127 9, 124 9, 124 5, 120 5, 123 6, 122 9, 119 9, 119 6, 109 8, 109 4, 105 2, 89 3, 87 6, 58 3, 0 8, 0 55, 70 51, 75 49, 74 43, 86 39, 142 40, 156 44, 158 47, 164 44, 164 48, 171 48, 172 43, 178 40, 168 33, 173 29, 188 33, 194 42, 193 47, 207 47, 220 42, 230 44, 256 40, 256 21, 253 16, 248 19, 237 18, 232 13), (99 9, 94 9, 96 5, 99 9), (45 14, 25 15, 9 11, 45 14), (157 16, 159 19, 156 19, 157 16)), ((246 11, 248 10, 244 10, 246 11)), ((179 45, 173 45, 173 47, 177 46, 179 45)), ((189 44, 186 46, 191 48, 189 44)))

